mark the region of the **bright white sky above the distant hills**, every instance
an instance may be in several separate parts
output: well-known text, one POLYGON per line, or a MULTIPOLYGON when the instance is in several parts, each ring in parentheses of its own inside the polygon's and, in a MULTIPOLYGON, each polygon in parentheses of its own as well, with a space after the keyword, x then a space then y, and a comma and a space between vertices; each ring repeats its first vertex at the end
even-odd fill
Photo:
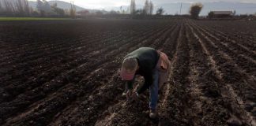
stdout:
MULTIPOLYGON (((36 0, 29 0, 36 1, 36 0)), ((49 0, 47 0, 49 1, 49 0)), ((86 9, 107 9, 109 7, 120 7, 130 5, 130 0, 62 0, 65 2, 74 2, 75 5, 86 9)), ((212 0, 211 2, 218 2, 212 0)), ((143 5, 145 0, 135 0, 137 5, 143 5)), ((171 3, 171 2, 209 2, 209 0, 152 0, 154 5, 171 3)), ((256 3, 256 0, 221 0, 221 2, 251 2, 256 3)))

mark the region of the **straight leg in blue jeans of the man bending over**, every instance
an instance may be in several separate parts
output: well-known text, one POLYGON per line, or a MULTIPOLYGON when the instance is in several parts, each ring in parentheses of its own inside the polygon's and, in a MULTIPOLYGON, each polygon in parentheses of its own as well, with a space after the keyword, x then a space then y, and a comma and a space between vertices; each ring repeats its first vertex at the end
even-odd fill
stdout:
POLYGON ((159 72, 157 69, 154 69, 152 74, 153 76, 153 83, 149 87, 149 108, 152 110, 156 110, 157 100, 158 100, 158 81, 159 81, 159 72))

